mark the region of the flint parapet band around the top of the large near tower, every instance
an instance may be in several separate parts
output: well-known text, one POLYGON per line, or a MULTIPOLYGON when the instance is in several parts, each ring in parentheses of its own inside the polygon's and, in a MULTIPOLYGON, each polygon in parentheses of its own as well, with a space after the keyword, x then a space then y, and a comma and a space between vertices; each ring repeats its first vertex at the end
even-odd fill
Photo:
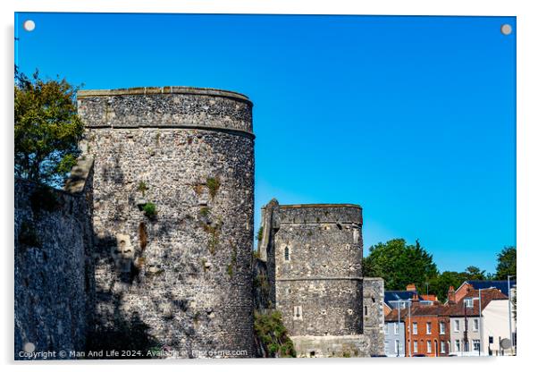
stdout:
POLYGON ((79 90, 88 128, 198 128, 253 137, 252 102, 230 90, 146 87, 79 90))

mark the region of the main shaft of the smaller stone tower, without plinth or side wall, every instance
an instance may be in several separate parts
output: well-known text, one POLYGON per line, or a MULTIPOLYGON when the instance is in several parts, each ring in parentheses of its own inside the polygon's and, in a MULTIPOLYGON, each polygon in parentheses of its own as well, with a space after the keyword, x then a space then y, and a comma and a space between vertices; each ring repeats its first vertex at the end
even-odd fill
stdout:
POLYGON ((361 226, 358 206, 280 207, 276 306, 291 336, 362 334, 361 226))

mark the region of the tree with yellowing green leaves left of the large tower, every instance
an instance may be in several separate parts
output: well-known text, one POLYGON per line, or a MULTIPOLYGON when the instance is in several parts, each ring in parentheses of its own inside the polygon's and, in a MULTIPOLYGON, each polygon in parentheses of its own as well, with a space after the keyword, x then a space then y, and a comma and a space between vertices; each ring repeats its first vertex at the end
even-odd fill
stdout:
POLYGON ((80 155, 76 87, 15 69, 15 175, 60 187, 80 155))

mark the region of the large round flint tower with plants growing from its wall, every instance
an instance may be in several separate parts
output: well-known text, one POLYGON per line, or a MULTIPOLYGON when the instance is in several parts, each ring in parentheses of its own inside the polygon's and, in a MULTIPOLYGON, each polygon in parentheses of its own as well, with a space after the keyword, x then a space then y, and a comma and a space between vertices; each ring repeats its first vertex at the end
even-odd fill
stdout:
POLYGON ((78 103, 95 161, 97 346, 253 356, 248 97, 165 87, 78 103))

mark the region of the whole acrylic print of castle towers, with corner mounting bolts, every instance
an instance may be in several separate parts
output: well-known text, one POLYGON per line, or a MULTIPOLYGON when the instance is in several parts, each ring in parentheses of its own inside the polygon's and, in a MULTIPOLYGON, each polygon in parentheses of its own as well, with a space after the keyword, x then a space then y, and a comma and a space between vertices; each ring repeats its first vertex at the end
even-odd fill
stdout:
POLYGON ((14 358, 515 355, 516 31, 16 13, 14 358))

